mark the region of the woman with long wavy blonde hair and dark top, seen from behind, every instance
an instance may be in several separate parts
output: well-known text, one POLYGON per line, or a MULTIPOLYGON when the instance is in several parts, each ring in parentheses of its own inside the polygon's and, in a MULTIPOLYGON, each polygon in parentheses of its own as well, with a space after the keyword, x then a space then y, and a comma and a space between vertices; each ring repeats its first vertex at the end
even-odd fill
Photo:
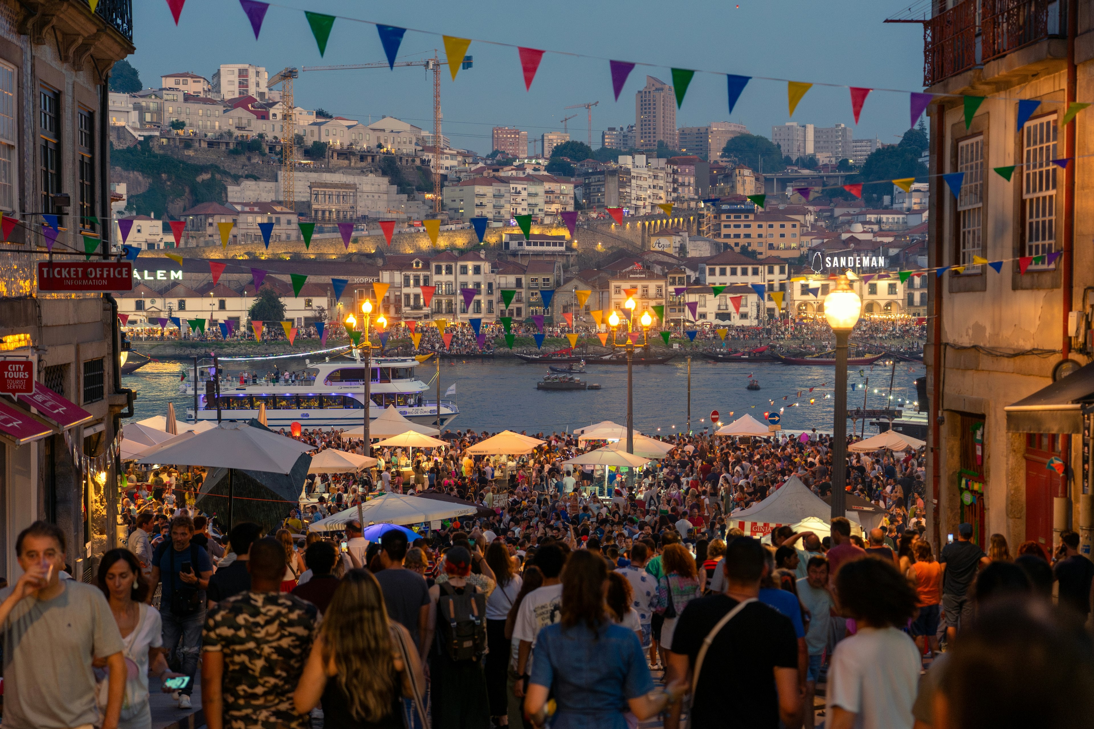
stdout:
POLYGON ((350 569, 323 613, 292 697, 296 713, 322 701, 327 729, 404 729, 403 697, 420 697, 424 685, 414 640, 388 619, 380 583, 350 569))

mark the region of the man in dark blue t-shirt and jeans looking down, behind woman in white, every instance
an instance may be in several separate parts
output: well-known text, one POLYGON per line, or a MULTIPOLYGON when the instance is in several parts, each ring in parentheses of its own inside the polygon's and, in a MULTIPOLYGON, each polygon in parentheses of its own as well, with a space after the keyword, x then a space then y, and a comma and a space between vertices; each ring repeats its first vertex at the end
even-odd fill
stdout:
POLYGON ((190 708, 194 675, 201 650, 201 626, 205 624, 206 590, 212 576, 209 554, 191 542, 194 520, 177 516, 171 520, 171 540, 165 540, 152 556, 149 601, 163 580, 160 614, 163 620, 163 647, 175 652, 182 672, 190 677, 189 684, 178 692, 178 708, 190 708))

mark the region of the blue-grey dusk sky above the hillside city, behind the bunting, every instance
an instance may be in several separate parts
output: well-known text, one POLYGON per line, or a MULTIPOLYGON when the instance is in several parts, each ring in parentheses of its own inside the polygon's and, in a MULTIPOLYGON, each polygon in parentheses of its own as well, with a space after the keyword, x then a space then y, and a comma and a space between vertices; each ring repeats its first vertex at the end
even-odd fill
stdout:
MULTIPOLYGON (((574 58, 546 54, 531 92, 525 92, 515 48, 473 42, 468 55, 475 66, 455 82, 446 70, 441 86, 443 131, 455 146, 490 151, 490 129, 509 125, 538 138, 561 131, 569 122, 571 139, 585 141, 584 109, 563 111, 571 104, 600 102, 593 108, 593 146, 607 127, 635 124, 635 92, 645 75, 671 82, 670 67, 742 75, 766 75, 814 83, 921 91, 923 32, 920 24, 883 24, 907 5, 907 0, 675 0, 671 3, 587 2, 551 3, 439 2, 364 3, 351 0, 312 0, 270 5, 256 42, 236 0, 188 0, 178 27, 166 2, 133 3, 133 43, 129 61, 146 87, 159 86, 163 73, 193 71, 208 79, 220 63, 265 66, 270 75, 286 66, 334 66, 385 59, 373 25, 346 19, 420 28, 438 34, 577 54, 574 58), (303 10, 340 15, 325 57, 303 10), (663 64, 637 66, 616 102, 607 60, 663 64)), ((440 35, 407 31, 399 60, 418 60, 440 49, 440 35)), ((389 115, 432 130, 432 81, 421 68, 389 71, 350 70, 302 72, 295 85, 296 104, 323 107, 337 116, 368 121, 389 115)), ((895 142, 908 128, 908 95, 875 91, 854 127, 847 89, 814 86, 788 117, 787 84, 754 79, 731 116, 725 77, 696 73, 677 127, 711 121, 744 124, 753 133, 769 137, 772 125, 793 120, 828 127, 853 127, 857 139, 878 137, 895 142)))

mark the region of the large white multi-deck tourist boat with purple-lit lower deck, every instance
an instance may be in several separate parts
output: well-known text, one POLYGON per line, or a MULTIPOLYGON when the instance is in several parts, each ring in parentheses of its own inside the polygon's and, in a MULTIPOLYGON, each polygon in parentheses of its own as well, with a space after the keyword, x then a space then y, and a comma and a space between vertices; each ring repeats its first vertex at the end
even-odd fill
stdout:
MULTIPOLYGON (((361 425, 364 409, 364 373, 360 358, 356 361, 322 363, 304 361, 305 366, 296 371, 296 381, 270 384, 260 380, 255 385, 237 385, 236 377, 221 380, 220 410, 223 420, 251 420, 258 416, 258 407, 266 404, 266 424, 272 428, 288 428, 293 422, 303 427, 346 430, 361 425)), ((222 369, 224 369, 222 363, 222 369)), ((373 407, 370 418, 377 418, 388 405, 394 405, 400 415, 416 423, 435 425, 438 419, 437 399, 429 385, 415 377, 419 362, 415 357, 373 357, 370 362, 372 381, 370 396, 373 407)), ((193 374, 179 388, 196 403, 186 410, 186 420, 195 418, 217 420, 217 401, 211 393, 212 365, 205 361, 198 366, 197 392, 194 390, 193 374)), ((456 403, 441 400, 441 425, 447 425, 459 414, 456 403)))

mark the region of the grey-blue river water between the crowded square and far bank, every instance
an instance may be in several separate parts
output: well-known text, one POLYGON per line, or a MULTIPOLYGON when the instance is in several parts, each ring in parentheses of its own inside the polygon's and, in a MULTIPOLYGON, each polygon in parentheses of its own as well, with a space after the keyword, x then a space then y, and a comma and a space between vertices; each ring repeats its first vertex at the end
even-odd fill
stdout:
MULTIPOLYGON (((303 360, 278 360, 282 372, 304 366, 303 360)), ((861 408, 863 395, 866 408, 884 408, 889 396, 893 375, 893 404, 903 407, 917 399, 913 380, 924 373, 923 365, 897 362, 893 368, 881 360, 866 367, 852 366, 848 375, 848 405, 861 408), (869 385, 866 379, 869 378, 869 385), (854 389, 851 389, 851 385, 854 389), (865 389, 865 392, 864 392, 865 389), (876 390, 876 392, 875 392, 876 390)), ((231 363, 224 363, 228 373, 231 363)), ((193 404, 178 391, 179 374, 193 366, 186 360, 151 362, 123 377, 124 386, 137 392, 136 420, 165 415, 167 403, 175 403, 179 420, 193 404)), ((242 368, 242 364, 234 367, 242 368)), ((256 362, 248 369, 260 373, 272 363, 256 362)), ((600 390, 551 392, 536 390, 536 381, 545 374, 545 365, 519 360, 443 360, 441 392, 456 386, 455 399, 461 413, 452 421, 452 430, 563 432, 591 423, 610 420, 624 424, 627 419, 627 368, 616 365, 590 365, 582 378, 600 384, 600 390)), ((435 365, 429 362, 417 369, 418 377, 431 383, 435 365)), ((711 410, 718 410, 728 423, 748 413, 763 420, 766 411, 784 408, 782 427, 789 431, 817 428, 831 431, 833 385, 835 368, 824 366, 790 366, 780 363, 722 364, 701 358, 691 361, 691 427, 701 431, 710 425, 711 410), (748 376, 754 376, 761 389, 747 390, 748 376), (814 391, 808 392, 813 387, 814 391), (798 392, 801 391, 801 397, 798 392), (788 396, 783 400, 783 396, 788 396), (827 398, 825 396, 828 396, 827 398), (814 402, 811 404, 810 400, 814 402), (771 405, 771 400, 776 404, 771 405), (793 407, 794 403, 800 403, 793 407), (732 414, 731 414, 732 413, 732 414)), ((665 365, 637 366, 635 383, 635 427, 650 435, 680 432, 687 423, 687 361, 678 357, 665 365)), ((431 395, 433 391, 431 386, 431 395)), ((429 397, 429 396, 428 396, 429 397)), ((907 410, 913 410, 908 408, 907 410)), ((850 427, 850 425, 848 426, 850 427)), ((868 433, 870 428, 868 427, 868 433)))

